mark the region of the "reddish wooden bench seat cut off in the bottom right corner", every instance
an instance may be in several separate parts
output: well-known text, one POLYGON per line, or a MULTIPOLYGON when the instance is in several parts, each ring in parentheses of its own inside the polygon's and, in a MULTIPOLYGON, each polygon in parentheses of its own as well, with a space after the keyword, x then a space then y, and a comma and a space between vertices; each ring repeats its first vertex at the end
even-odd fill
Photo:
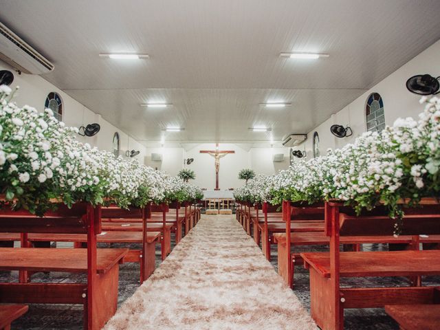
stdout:
MULTIPOLYGON (((440 289, 436 289, 440 296, 440 289)), ((430 305, 386 305, 386 313, 399 323, 401 330, 439 330, 440 302, 430 305)))

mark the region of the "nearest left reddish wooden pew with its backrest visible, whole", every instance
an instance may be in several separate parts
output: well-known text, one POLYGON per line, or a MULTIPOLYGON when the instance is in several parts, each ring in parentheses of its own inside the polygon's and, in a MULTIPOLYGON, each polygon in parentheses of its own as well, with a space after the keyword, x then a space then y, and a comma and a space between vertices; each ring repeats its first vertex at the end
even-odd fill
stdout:
POLYGON ((18 270, 19 283, 0 283, 0 303, 82 304, 85 329, 101 329, 118 303, 119 263, 127 249, 97 249, 101 208, 58 205, 40 218, 0 209, 1 232, 21 233, 22 248, 0 248, 0 270, 18 270), (28 233, 87 234, 87 249, 29 248, 28 233), (80 272, 87 283, 30 283, 27 272, 80 272))

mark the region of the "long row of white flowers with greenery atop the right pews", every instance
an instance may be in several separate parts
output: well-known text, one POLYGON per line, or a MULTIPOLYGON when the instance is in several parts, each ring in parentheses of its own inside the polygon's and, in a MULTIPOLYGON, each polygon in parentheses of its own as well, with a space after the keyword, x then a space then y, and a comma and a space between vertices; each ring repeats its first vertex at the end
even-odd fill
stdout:
POLYGON ((338 199, 358 214, 379 204, 388 206, 399 234, 404 206, 423 197, 440 197, 440 99, 425 104, 419 120, 397 119, 384 131, 366 132, 353 144, 326 156, 298 159, 287 170, 258 175, 236 189, 239 201, 279 205, 283 200, 315 203, 338 199))

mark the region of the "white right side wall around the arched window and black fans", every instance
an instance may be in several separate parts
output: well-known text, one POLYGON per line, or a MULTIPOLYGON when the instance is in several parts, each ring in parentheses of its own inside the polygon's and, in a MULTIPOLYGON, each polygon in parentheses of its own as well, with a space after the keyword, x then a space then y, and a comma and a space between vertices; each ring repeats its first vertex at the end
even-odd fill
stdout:
MULTIPOLYGON (((335 113, 328 120, 310 131, 305 142, 308 158, 313 157, 312 144, 314 131, 320 137, 320 153, 325 155, 327 148, 340 148, 344 144, 351 143, 355 137, 366 131, 365 105, 369 95, 373 92, 379 93, 384 100, 385 122, 392 125, 397 118, 412 117, 423 111, 419 104, 419 96, 410 93, 406 89, 406 80, 417 74, 430 74, 440 76, 440 41, 428 47, 421 54, 412 58, 408 63, 397 69, 393 74, 386 77, 373 88, 366 91, 362 96, 351 102, 338 113, 335 113), (347 124, 353 130, 351 137, 338 138, 330 133, 332 124, 347 124)), ((299 147, 301 150, 304 145, 299 147)))

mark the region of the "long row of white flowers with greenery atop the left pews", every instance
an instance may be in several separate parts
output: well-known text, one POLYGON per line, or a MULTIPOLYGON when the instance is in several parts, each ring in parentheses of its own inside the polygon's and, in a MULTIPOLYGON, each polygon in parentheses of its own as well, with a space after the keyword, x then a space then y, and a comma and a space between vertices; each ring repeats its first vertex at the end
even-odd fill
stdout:
POLYGON ((12 96, 0 86, 0 193, 14 208, 43 214, 53 199, 128 208, 203 195, 180 178, 78 142, 78 129, 58 122, 50 109, 17 107, 12 96))

